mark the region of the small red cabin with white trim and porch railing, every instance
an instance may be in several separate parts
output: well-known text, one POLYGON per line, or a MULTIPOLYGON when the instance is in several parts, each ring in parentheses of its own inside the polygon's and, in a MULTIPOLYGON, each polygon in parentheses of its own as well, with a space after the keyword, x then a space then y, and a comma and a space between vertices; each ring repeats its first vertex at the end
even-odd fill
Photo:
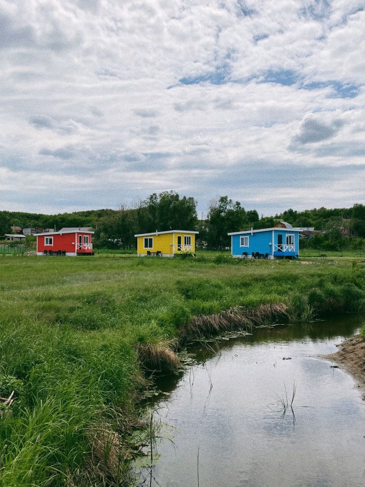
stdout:
POLYGON ((37 255, 93 255, 90 228, 62 228, 58 232, 36 233, 37 255))

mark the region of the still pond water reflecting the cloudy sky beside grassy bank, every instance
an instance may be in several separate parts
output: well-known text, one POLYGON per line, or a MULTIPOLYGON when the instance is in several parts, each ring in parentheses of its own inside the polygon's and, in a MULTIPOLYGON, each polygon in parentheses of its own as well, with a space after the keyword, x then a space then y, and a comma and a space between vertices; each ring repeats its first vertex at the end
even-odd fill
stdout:
POLYGON ((170 393, 153 405, 165 439, 140 485, 365 485, 363 391, 318 357, 361 320, 262 328, 214 352, 199 345, 196 365, 159 380, 170 393))

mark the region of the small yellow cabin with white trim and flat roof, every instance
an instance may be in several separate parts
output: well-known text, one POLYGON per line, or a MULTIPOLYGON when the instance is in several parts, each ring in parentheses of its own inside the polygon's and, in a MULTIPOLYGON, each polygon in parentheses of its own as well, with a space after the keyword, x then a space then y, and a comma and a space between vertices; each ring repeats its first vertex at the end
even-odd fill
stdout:
POLYGON ((173 257, 176 254, 195 253, 195 234, 186 230, 140 233, 137 237, 138 256, 173 257))

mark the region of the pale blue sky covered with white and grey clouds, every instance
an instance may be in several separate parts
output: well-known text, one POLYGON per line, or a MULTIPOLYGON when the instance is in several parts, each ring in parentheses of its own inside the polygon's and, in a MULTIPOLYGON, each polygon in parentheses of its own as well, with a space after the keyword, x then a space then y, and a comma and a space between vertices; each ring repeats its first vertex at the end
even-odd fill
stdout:
POLYGON ((0 209, 364 203, 365 0, 0 0, 0 209))

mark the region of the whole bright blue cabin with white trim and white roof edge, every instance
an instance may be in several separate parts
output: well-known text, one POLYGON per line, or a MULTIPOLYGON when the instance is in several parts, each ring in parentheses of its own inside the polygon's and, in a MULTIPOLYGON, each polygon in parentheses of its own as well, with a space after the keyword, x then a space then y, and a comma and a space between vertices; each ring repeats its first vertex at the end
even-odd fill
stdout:
POLYGON ((299 229, 296 228, 263 228, 232 232, 231 249, 233 257, 248 259, 298 259, 299 229))

